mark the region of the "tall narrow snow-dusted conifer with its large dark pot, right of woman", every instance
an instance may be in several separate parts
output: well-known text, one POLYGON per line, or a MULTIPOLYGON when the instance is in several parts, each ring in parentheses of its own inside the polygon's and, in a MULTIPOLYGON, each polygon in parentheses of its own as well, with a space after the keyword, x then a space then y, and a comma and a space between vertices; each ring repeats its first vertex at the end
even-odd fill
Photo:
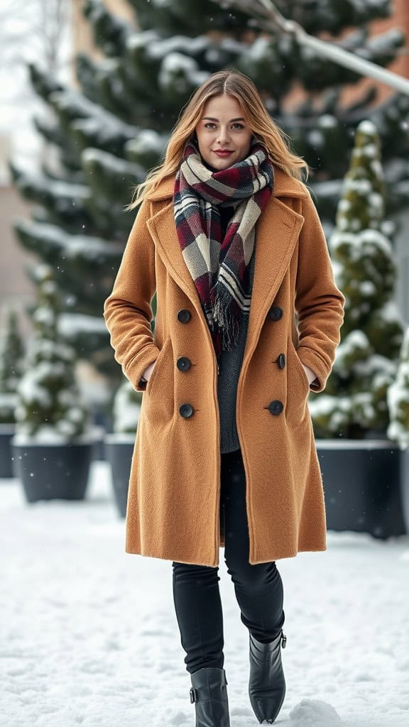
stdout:
POLYGON ((393 300, 393 231, 384 220, 378 133, 362 121, 329 241, 335 281, 346 297, 341 343, 325 393, 311 394, 309 407, 328 528, 381 538, 406 532, 400 448, 388 437, 387 392, 403 337, 393 300))

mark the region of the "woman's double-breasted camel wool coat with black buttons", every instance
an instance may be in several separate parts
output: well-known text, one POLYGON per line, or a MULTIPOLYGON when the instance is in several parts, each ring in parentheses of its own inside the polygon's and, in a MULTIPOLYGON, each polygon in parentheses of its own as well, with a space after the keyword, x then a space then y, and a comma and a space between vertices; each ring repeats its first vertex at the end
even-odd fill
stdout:
MULTIPOLYGON (((307 399, 309 390, 325 388, 344 321, 345 298, 335 286, 309 190, 275 166, 274 176, 274 192, 256 225, 237 387, 251 564, 326 550, 322 475, 307 399), (317 376, 311 385, 301 362, 317 376)), ((225 545, 218 370, 178 241, 174 181, 162 180, 141 204, 104 305, 116 361, 135 390, 145 392, 125 552, 214 567, 225 545), (151 378, 141 382, 153 361, 151 378)))

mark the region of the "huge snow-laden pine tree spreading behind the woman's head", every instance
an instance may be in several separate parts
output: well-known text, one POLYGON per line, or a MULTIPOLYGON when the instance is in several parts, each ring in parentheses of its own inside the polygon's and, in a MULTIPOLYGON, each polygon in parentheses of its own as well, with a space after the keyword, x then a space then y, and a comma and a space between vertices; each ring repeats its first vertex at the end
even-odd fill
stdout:
MULTIPOLYGON (((316 169, 317 204, 327 221, 335 216, 354 129, 369 114, 381 133, 386 178, 393 182, 387 186, 389 211, 406 204, 409 178, 406 97, 392 95, 374 110, 372 89, 345 108, 344 85, 360 76, 299 49, 281 33, 260 32, 246 15, 212 0, 130 4, 133 25, 112 15, 102 0, 84 2, 105 57, 77 57, 81 90, 31 67, 33 85, 55 119, 38 120, 37 126, 59 150, 60 169, 44 166, 41 174, 29 175, 12 166, 18 188, 36 202, 34 220, 19 222, 17 235, 55 268, 63 332, 79 356, 115 377, 115 385, 121 371, 101 313, 134 216, 124 214, 124 206, 135 183, 160 161, 181 106, 208 74, 234 67, 254 79, 295 150, 316 169), (306 98, 289 111, 285 101, 294 82, 306 98)), ((389 0, 279 0, 277 6, 309 33, 327 31, 334 42, 381 65, 392 62, 405 41, 398 30, 368 37, 368 23, 389 15, 389 0), (346 38, 337 39, 349 29, 346 38)))

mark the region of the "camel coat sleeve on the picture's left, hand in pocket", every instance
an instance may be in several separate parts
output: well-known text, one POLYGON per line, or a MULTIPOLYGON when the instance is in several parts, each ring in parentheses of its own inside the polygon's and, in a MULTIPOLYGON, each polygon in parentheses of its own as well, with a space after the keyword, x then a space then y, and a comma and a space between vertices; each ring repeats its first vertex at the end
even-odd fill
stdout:
POLYGON ((159 356, 151 331, 156 277, 154 241, 146 226, 151 216, 149 209, 149 202, 144 200, 127 239, 114 287, 103 307, 115 359, 136 391, 146 389, 146 382, 140 378, 159 356))

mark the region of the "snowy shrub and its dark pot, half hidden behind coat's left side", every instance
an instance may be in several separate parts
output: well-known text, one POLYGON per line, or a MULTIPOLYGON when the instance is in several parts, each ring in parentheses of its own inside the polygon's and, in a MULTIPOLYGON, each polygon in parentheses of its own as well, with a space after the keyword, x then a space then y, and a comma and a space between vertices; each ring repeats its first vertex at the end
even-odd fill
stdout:
POLYGON ((114 433, 105 437, 112 486, 120 517, 127 514, 128 484, 143 393, 126 379, 114 396, 114 433))

